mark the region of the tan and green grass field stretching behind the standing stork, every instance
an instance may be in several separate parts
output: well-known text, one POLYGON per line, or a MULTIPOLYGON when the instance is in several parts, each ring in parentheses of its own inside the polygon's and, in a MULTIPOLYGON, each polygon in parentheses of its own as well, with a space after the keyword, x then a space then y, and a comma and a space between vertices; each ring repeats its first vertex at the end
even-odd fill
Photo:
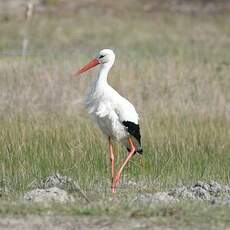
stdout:
MULTIPOLYGON (((25 22, 2 22, 0 181, 11 199, 55 172, 74 178, 92 199, 109 196, 107 142, 81 105, 96 70, 80 78, 70 74, 102 48, 117 55, 111 85, 141 117, 144 154, 125 170, 123 183, 137 183, 128 192, 146 189, 143 184, 149 191, 196 180, 229 184, 229 21, 228 15, 98 9, 37 15, 27 26, 26 58, 20 56, 25 22)), ((119 145, 115 153, 118 160, 127 154, 119 145)), ((223 210, 218 213, 223 217, 223 210)))

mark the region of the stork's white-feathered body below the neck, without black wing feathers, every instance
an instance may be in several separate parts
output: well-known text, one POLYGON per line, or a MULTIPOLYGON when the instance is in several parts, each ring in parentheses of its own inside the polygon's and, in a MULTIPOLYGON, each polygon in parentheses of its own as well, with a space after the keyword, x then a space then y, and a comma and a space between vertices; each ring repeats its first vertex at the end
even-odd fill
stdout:
POLYGON ((99 73, 98 79, 86 96, 85 106, 107 137, 120 141, 128 148, 128 137, 132 136, 122 122, 130 121, 138 125, 138 114, 133 105, 120 96, 106 79, 101 82, 101 77, 99 73))

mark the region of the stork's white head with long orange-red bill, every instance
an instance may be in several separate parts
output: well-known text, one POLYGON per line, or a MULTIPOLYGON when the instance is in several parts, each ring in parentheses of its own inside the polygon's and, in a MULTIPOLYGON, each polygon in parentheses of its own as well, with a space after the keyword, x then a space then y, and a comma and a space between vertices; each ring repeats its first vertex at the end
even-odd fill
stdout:
POLYGON ((99 64, 108 65, 109 67, 111 67, 114 61, 115 61, 114 52, 111 49, 103 49, 98 53, 96 58, 94 58, 88 64, 83 66, 80 70, 75 71, 73 74, 79 75, 99 64))

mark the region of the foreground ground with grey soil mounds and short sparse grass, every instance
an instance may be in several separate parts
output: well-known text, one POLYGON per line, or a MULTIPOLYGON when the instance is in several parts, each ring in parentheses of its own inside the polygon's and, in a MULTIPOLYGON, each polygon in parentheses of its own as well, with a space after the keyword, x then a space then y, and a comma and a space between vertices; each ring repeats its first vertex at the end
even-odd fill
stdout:
POLYGON ((53 175, 18 200, 1 202, 1 229, 229 229, 230 187, 214 181, 166 192, 136 190, 130 181, 100 196, 82 194, 72 182, 53 175))

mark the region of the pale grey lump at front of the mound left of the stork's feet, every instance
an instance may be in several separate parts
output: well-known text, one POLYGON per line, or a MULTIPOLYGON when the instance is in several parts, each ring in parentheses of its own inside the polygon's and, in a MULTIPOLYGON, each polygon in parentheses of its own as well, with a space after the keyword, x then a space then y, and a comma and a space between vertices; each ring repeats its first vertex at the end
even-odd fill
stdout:
POLYGON ((73 202, 74 198, 67 194, 66 191, 57 187, 48 189, 34 189, 24 194, 22 200, 31 202, 73 202))

